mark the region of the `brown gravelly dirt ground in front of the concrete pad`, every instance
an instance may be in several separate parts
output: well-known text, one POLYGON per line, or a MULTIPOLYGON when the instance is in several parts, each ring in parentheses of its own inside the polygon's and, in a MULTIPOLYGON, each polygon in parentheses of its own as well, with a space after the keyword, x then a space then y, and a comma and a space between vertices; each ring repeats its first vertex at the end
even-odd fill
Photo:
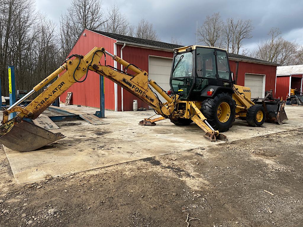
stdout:
POLYGON ((29 184, 14 181, 1 149, 0 226, 186 227, 187 215, 191 227, 303 226, 302 132, 29 184))

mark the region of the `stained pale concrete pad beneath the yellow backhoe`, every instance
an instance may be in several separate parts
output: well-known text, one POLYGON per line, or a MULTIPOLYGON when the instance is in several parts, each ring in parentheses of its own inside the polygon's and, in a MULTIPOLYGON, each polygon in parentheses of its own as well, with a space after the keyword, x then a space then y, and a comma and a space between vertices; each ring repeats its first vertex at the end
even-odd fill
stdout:
MULTIPOLYGON (((95 108, 64 106, 66 109, 95 113, 95 108)), ((268 124, 248 127, 245 121, 236 120, 230 131, 224 134, 229 141, 241 140, 265 134, 303 127, 303 107, 285 107, 286 124, 268 124)), ((204 132, 194 123, 175 126, 169 120, 156 126, 140 126, 138 122, 152 115, 153 111, 106 111, 105 125, 92 125, 84 120, 57 122, 66 137, 38 151, 18 152, 5 147, 12 172, 17 182, 43 179, 46 174, 60 176, 106 167, 142 158, 209 147, 221 143, 209 142, 204 132)), ((47 112, 45 113, 47 115, 47 112)), ((283 142, 283 141, 281 141, 283 142)))

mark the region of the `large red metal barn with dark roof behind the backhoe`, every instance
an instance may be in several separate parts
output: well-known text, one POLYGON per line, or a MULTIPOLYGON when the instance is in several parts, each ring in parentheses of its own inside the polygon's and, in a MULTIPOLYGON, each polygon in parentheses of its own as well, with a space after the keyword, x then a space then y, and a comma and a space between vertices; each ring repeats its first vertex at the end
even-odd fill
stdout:
MULTIPOLYGON (((180 46, 85 29, 69 55, 85 55, 95 46, 104 47, 108 52, 147 71, 149 79, 155 80, 164 90, 170 89, 169 76, 173 49, 180 46)), ((238 73, 238 84, 251 87, 252 97, 264 97, 265 90, 275 92, 277 64, 237 54, 228 54, 228 56, 231 71, 234 72, 234 75, 236 72, 238 73), (236 70, 237 68, 238 70, 236 70)), ((106 61, 108 65, 122 69, 121 65, 111 58, 107 58, 106 61)), ((102 58, 101 64, 104 64, 104 58, 102 58)), ((130 71, 130 73, 132 72, 130 71)), ((99 107, 99 75, 89 72, 85 82, 75 83, 67 92, 73 92, 71 100, 73 105, 99 107)), ((62 94, 61 100, 65 100, 67 92, 62 94)), ((148 105, 140 99, 105 78, 105 109, 132 110, 134 99, 138 100, 138 107, 148 108, 148 105)))

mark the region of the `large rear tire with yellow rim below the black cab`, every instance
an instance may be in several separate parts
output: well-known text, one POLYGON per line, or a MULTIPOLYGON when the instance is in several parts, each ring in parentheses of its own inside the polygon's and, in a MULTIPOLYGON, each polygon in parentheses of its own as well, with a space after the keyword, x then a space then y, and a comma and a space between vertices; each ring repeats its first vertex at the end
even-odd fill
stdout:
POLYGON ((201 112, 207 122, 219 132, 228 131, 235 121, 235 103, 228 93, 219 93, 202 102, 201 112))

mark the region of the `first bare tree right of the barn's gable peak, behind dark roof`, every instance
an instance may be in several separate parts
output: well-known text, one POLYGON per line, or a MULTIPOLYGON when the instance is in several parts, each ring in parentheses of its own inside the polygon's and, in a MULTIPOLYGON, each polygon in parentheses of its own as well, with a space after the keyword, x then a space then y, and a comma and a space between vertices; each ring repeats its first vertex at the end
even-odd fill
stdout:
POLYGON ((120 12, 117 5, 112 4, 107 10, 106 21, 103 24, 103 31, 119 35, 127 35, 128 29, 128 19, 120 12))

